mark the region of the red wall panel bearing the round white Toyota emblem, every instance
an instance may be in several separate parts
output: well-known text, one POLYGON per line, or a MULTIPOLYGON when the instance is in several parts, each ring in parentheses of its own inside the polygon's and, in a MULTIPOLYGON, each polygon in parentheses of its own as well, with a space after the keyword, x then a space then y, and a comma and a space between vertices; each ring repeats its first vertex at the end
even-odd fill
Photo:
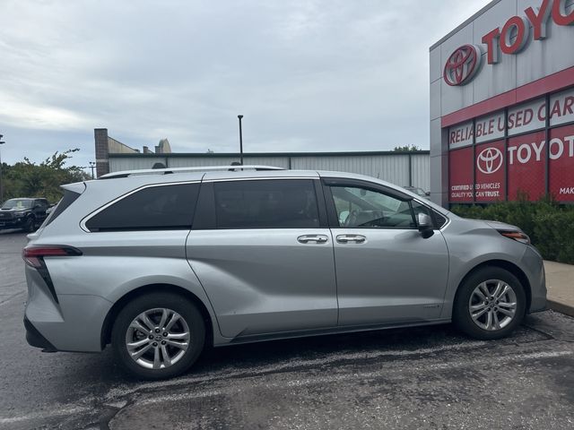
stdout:
POLYGON ((506 188, 504 141, 476 145, 475 153, 476 202, 504 200, 506 188))

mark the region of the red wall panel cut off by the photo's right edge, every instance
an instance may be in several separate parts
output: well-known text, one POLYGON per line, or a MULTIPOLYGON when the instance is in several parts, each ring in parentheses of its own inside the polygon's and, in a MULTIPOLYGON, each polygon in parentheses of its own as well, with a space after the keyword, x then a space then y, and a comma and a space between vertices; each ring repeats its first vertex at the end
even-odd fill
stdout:
POLYGON ((574 202, 574 125, 550 131, 549 191, 559 202, 574 202))

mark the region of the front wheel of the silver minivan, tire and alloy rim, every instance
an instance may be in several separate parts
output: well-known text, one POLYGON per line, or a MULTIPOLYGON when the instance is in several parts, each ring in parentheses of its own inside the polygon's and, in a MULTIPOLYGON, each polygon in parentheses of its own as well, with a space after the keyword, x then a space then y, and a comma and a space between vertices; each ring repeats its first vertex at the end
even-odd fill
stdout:
POLYGON ((526 294, 517 277, 499 267, 484 267, 458 288, 453 323, 475 339, 493 340, 514 331, 525 313, 526 294))

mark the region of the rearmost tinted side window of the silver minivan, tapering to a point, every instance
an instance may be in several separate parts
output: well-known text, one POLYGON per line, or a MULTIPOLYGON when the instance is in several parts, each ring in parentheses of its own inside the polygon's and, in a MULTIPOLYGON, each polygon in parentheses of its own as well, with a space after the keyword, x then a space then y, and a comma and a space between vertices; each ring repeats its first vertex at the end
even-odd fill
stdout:
POLYGON ((191 228, 199 184, 144 188, 86 222, 90 231, 191 228))

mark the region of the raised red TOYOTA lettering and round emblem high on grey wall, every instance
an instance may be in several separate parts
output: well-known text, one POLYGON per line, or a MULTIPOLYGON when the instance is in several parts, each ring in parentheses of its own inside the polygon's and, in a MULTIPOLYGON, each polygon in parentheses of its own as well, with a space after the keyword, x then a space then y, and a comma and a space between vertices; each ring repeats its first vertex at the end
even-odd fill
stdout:
MULTIPOLYGON (((574 24, 574 7, 570 11, 566 4, 570 0, 544 0, 539 8, 525 9, 524 16, 511 17, 502 28, 497 27, 481 39, 486 50, 488 64, 499 62, 499 53, 516 55, 531 39, 542 40, 548 37, 546 25, 552 17, 556 25, 574 24), (531 33, 532 27, 532 36, 531 33)), ((481 65, 481 47, 463 45, 448 57, 443 70, 444 81, 450 86, 465 85, 471 82, 481 65)))

